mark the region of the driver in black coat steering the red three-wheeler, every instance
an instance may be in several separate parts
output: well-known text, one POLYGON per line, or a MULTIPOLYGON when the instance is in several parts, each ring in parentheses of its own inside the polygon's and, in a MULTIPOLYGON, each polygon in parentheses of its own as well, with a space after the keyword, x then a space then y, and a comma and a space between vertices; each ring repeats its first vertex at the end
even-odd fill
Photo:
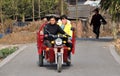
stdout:
POLYGON ((45 25, 44 27, 44 39, 45 39, 45 42, 44 44, 48 47, 51 47, 51 43, 50 41, 53 40, 52 37, 50 37, 49 35, 52 34, 52 35, 57 35, 57 34, 66 34, 62 29, 61 27, 57 24, 57 19, 56 17, 54 16, 51 16, 50 19, 49 19, 49 23, 45 25))

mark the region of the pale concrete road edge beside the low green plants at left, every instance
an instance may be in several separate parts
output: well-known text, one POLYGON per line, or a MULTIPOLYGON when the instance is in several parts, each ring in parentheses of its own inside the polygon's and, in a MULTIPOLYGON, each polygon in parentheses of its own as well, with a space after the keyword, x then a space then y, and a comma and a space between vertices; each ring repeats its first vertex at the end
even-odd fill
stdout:
POLYGON ((7 64, 10 60, 12 60, 15 56, 17 56, 20 52, 22 52, 27 46, 21 47, 19 50, 15 51, 11 55, 7 56, 4 60, 0 62, 0 68, 7 64))

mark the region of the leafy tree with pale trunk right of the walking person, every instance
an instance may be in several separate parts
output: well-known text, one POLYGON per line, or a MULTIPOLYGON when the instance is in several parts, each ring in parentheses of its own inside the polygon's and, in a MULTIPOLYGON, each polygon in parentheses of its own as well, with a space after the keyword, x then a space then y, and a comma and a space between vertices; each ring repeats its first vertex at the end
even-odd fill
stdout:
POLYGON ((105 11, 109 11, 109 14, 112 16, 112 25, 113 25, 113 36, 114 39, 117 38, 117 24, 119 22, 120 16, 120 0, 102 0, 101 7, 105 11))

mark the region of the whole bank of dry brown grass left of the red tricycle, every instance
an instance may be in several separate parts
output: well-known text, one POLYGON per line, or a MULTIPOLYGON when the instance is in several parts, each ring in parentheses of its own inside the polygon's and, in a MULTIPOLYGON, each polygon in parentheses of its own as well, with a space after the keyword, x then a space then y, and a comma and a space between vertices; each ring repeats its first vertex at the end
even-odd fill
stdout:
POLYGON ((11 34, 0 39, 0 44, 25 44, 36 42, 36 31, 44 21, 31 22, 24 27, 14 26, 11 34))

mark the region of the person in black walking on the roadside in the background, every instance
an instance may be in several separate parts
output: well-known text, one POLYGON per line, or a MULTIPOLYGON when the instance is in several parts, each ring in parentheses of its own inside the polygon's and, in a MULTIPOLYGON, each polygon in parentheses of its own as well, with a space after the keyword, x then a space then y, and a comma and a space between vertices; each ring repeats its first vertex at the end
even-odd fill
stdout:
POLYGON ((93 25, 93 32, 96 34, 96 39, 99 39, 101 23, 106 24, 105 19, 99 14, 99 10, 94 10, 95 14, 92 16, 90 25, 93 25))

